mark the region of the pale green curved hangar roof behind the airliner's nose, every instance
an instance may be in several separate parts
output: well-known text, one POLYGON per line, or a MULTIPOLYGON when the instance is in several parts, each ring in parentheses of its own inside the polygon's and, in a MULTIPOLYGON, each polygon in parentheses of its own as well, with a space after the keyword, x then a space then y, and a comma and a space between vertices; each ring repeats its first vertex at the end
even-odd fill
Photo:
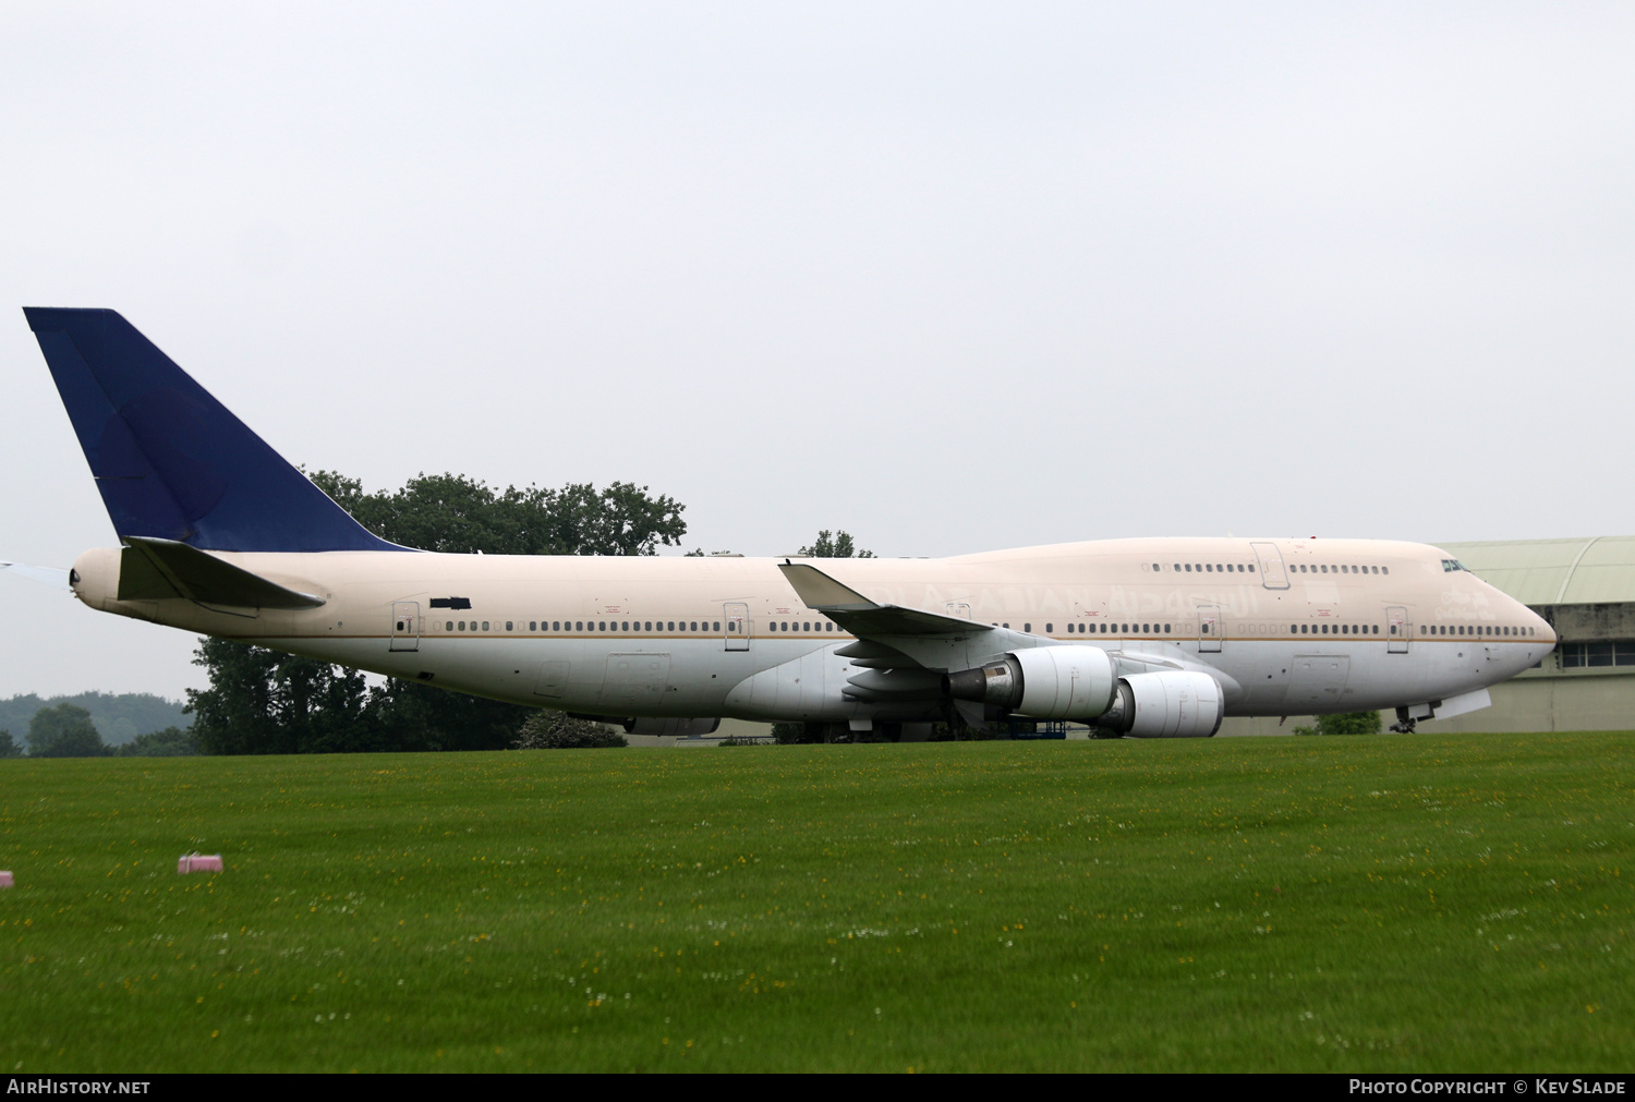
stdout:
POLYGON ((1524 605, 1635 602, 1635 536, 1436 546, 1524 605))

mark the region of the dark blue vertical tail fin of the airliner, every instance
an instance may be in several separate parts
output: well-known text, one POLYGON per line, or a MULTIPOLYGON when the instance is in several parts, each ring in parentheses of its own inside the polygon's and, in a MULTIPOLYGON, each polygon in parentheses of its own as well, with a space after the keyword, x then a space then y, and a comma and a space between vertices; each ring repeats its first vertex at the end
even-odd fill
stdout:
POLYGON ((114 311, 23 312, 121 540, 405 549, 353 520, 114 311))

